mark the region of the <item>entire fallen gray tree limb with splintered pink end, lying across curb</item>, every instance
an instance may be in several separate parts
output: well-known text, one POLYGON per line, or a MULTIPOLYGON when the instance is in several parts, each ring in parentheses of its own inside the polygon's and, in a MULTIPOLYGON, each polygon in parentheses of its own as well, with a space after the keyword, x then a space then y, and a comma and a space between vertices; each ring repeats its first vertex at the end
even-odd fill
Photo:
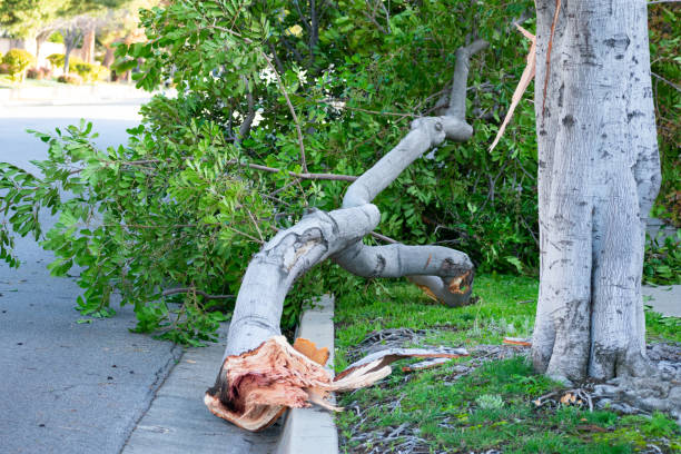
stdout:
POLYGON ((316 361, 323 357, 305 342, 298 349, 280 336, 284 298, 294 280, 326 258, 359 276, 408 276, 428 295, 448 306, 470 299, 473 264, 468 256, 440 246, 366 246, 381 220, 372 200, 414 160, 445 139, 466 141, 473 128, 465 120, 470 58, 484 49, 477 40, 456 51, 450 106, 444 116, 418 118, 411 131, 347 189, 343 207, 308 211, 280 230, 256 254, 244 275, 229 326, 223 366, 205 403, 215 415, 258 431, 272 424, 285 407, 316 403, 336 409, 325 397, 332 391, 368 386, 391 373, 389 363, 407 356, 456 357, 465 352, 387 351, 354 364, 332 381, 316 361))

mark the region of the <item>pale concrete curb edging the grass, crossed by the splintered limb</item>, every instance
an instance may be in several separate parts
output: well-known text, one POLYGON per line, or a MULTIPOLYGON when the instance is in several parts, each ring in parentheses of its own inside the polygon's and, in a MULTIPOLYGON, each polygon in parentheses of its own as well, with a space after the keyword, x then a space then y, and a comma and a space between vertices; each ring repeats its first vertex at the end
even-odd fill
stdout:
MULTIPOLYGON (((334 364, 334 298, 324 295, 315 307, 306 310, 300 318, 298 337, 327 347, 328 364, 334 364)), ((333 369, 329 369, 333 374, 333 369)), ((290 408, 284 423, 284 434, 276 454, 337 454, 338 430, 334 416, 319 407, 290 408)))

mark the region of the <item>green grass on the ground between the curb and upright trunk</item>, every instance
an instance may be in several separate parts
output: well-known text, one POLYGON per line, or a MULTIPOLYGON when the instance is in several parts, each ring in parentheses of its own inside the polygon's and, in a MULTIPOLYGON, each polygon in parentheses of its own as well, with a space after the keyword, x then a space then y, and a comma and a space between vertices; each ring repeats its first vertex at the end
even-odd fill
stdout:
MULTIPOLYGON (((345 292, 336 303, 335 366, 343 369, 354 345, 385 328, 426 329, 424 344, 447 346, 529 337, 537 290, 533 278, 480 276, 478 304, 456 309, 435 304, 407 283, 375 283, 361 292, 345 292)), ((669 320, 649 313, 650 337, 681 340, 680 330, 669 320)), ((423 452, 632 453, 649 443, 663 452, 681 452, 679 427, 663 414, 643 417, 573 406, 535 408, 533 399, 561 385, 536 375, 524 357, 488 362, 458 377, 456 367, 468 361, 460 358, 411 374, 395 367, 378 385, 342 395, 340 405, 355 408, 337 417, 342 451, 364 453, 383 445, 379 452, 391 452, 406 435, 382 440, 404 425, 425 443, 420 447, 423 452), (357 431, 373 433, 372 440, 353 442, 357 431)))

